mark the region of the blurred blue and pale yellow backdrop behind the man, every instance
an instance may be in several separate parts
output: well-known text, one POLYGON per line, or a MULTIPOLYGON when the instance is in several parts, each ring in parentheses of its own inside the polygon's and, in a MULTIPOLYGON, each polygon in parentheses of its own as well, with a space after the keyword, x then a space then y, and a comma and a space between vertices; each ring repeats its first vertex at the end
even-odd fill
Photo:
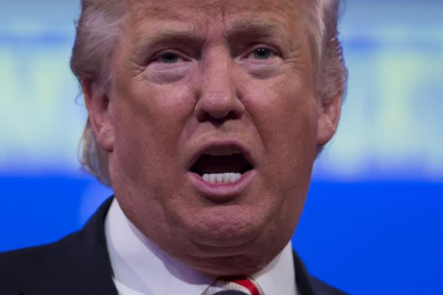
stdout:
MULTIPOLYGON (((76 0, 0 0, 0 251, 79 229, 111 195, 79 168, 76 0)), ((443 291, 443 1, 347 1, 349 90, 293 244, 351 294, 443 291)))

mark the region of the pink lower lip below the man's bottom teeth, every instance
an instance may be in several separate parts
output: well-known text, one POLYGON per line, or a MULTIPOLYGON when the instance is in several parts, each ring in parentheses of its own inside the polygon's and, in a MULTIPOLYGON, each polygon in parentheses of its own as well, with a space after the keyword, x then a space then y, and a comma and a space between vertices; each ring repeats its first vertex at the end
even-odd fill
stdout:
POLYGON ((188 172, 188 176, 192 184, 194 184, 198 190, 213 202, 228 202, 231 199, 238 197, 242 190, 251 182, 255 175, 255 170, 249 170, 242 174, 239 180, 235 182, 228 182, 224 184, 211 184, 204 181, 204 179, 194 172, 188 172))

